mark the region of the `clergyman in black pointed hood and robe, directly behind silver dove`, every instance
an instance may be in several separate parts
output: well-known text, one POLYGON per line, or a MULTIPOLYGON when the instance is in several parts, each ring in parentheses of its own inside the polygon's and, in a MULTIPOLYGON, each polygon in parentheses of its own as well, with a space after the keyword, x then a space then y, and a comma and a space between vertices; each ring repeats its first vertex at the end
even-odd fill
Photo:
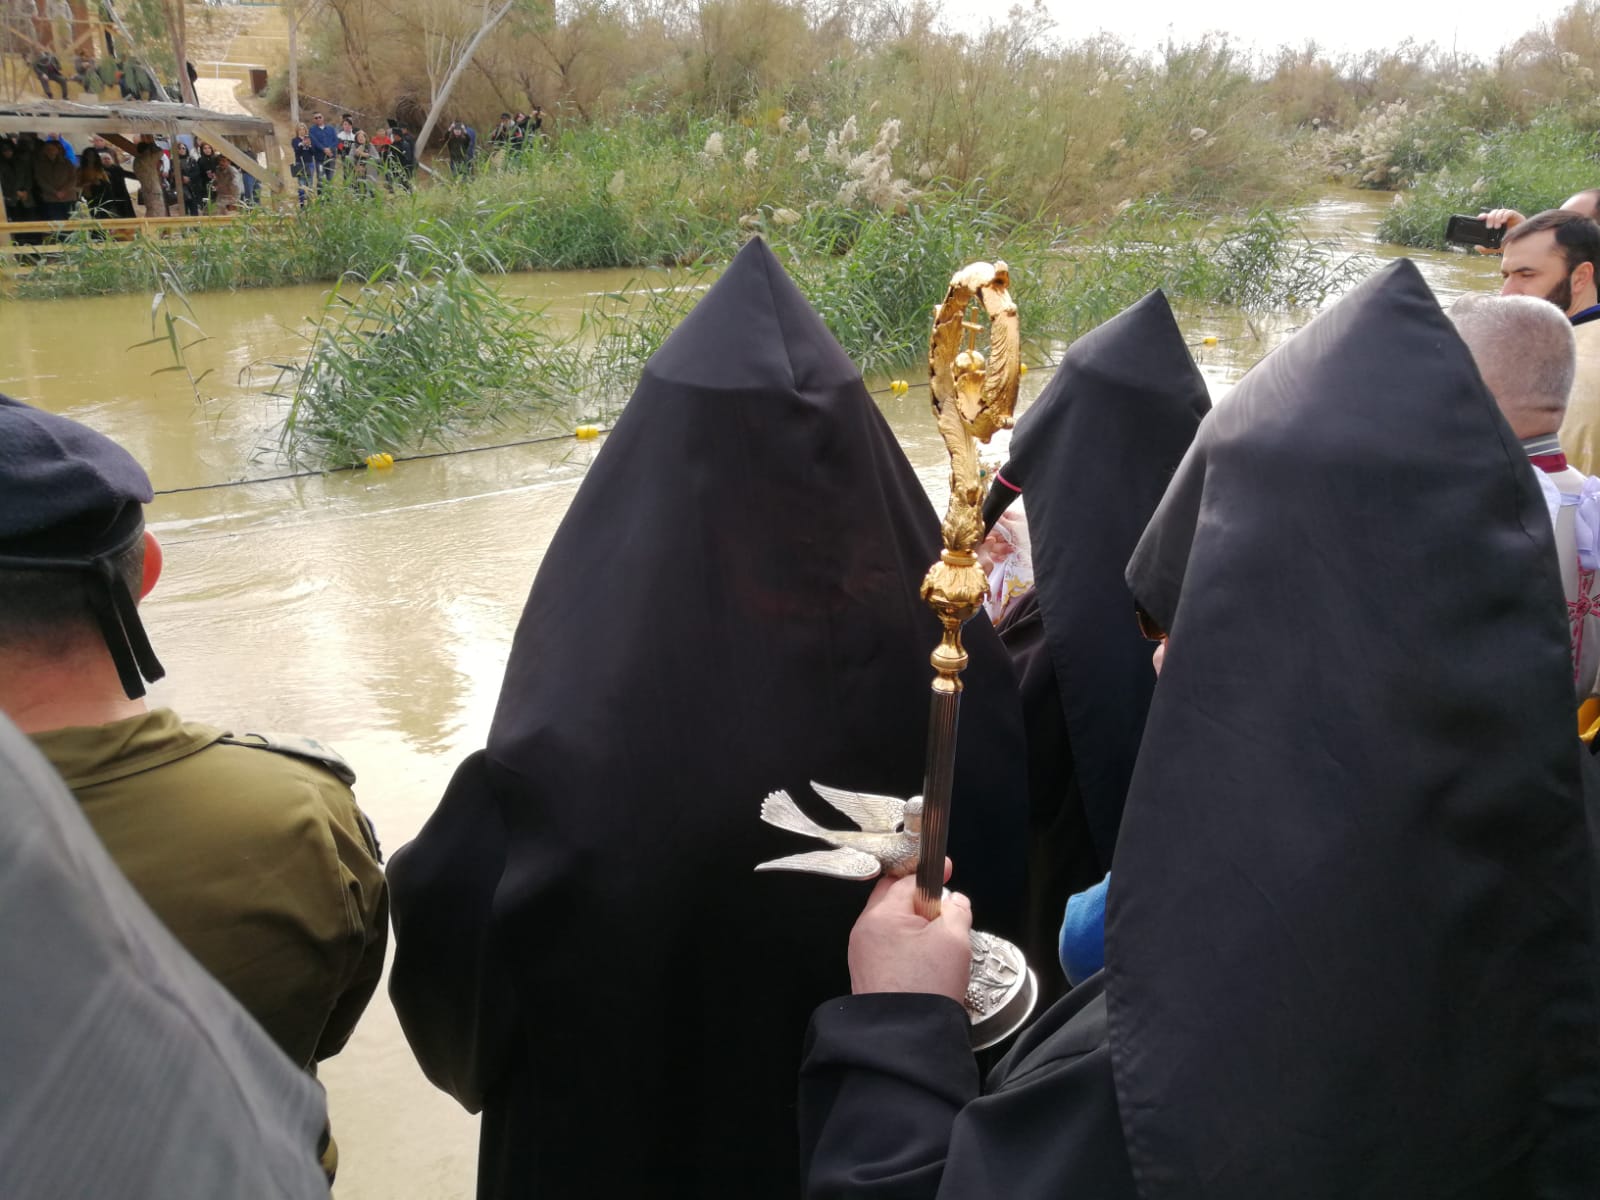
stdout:
MULTIPOLYGON (((486 752, 390 867, 395 1002, 430 1077, 488 1104, 485 1194, 795 1190, 800 1042, 848 989, 862 888, 757 875, 816 848, 760 802, 920 790, 938 550, 859 373, 752 242, 645 368, 486 752)), ((987 622, 966 642, 950 854, 1005 931, 1021 718, 987 622)))

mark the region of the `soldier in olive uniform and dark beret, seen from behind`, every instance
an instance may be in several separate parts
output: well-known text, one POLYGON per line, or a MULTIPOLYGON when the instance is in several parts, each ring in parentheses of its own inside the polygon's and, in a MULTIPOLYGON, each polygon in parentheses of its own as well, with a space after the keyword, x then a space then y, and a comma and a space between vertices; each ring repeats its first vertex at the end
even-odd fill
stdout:
POLYGON ((314 1069, 382 971, 378 842, 326 747, 146 706, 162 677, 136 610, 162 570, 150 499, 122 446, 0 395, 0 710, 178 941, 314 1069))

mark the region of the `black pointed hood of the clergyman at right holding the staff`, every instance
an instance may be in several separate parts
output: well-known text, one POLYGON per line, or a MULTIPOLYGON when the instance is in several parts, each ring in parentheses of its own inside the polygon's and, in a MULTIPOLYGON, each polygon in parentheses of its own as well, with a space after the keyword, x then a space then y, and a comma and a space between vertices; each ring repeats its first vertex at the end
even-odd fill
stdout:
POLYGON ((1144 1200, 1595 1194, 1594 859, 1550 522, 1410 262, 1202 427, 1107 917, 1144 1200))

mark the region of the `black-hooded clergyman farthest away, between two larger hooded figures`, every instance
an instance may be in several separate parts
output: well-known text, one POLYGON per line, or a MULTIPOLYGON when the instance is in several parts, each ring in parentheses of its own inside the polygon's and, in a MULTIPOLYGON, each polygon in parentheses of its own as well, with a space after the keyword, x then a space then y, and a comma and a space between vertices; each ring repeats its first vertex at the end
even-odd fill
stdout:
POLYGON ((1018 419, 986 525, 1026 496, 1034 589, 1000 621, 1029 760, 1027 934, 1046 995, 1062 907, 1110 870, 1155 672, 1123 579, 1211 400, 1152 291, 1078 338, 1018 419))

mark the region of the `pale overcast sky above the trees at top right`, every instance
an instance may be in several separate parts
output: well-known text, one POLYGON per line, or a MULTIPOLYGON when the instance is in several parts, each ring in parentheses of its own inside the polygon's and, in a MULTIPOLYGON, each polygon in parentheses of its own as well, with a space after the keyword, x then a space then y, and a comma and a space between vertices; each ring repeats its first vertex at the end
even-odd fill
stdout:
MULTIPOLYGON (((1005 11, 1006 0, 942 0, 947 19, 962 29, 1005 11)), ((1066 40, 1098 30, 1152 50, 1168 37, 1190 42, 1208 30, 1264 50, 1288 43, 1334 51, 1395 46, 1405 38, 1437 42, 1445 50, 1490 58, 1542 21, 1558 14, 1563 0, 1485 3, 1483 0, 1046 0, 1056 34, 1066 40)))

